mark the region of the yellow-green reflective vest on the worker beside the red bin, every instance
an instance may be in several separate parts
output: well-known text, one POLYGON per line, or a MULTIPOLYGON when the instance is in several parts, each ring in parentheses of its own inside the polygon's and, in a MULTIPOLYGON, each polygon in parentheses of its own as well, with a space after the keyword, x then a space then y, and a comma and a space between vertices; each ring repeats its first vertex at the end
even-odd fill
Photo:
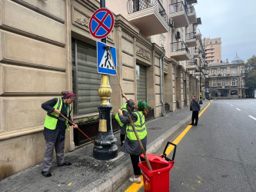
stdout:
MULTIPOLYGON (((135 114, 137 114, 137 121, 134 122, 135 124, 135 129, 138 133, 138 137, 140 139, 144 139, 147 136, 147 129, 146 129, 146 125, 145 125, 145 116, 143 115, 142 111, 136 111, 134 112, 135 114)), ((128 124, 128 126, 126 127, 126 135, 130 140, 137 140, 136 136, 135 136, 135 132, 133 131, 131 124, 128 124)))

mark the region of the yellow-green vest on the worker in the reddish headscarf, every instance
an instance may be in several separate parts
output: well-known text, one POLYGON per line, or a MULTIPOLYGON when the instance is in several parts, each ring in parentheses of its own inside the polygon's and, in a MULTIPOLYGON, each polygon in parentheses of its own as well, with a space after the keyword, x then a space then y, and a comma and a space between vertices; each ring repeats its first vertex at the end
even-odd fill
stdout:
MULTIPOLYGON (((58 98, 58 101, 53 108, 58 109, 58 111, 62 111, 62 98, 58 98)), ((68 105, 68 116, 70 111, 71 106, 68 105)), ((55 130, 58 120, 65 121, 66 128, 69 131, 68 121, 66 121, 65 118, 59 117, 55 112, 46 114, 44 126, 48 129, 55 130)))

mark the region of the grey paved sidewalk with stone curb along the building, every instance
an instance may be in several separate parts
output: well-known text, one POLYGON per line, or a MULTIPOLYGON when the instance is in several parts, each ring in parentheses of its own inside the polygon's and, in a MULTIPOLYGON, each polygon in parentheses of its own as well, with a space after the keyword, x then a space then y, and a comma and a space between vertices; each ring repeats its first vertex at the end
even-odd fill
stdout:
MULTIPOLYGON (((207 104, 208 101, 204 101, 201 109, 207 104)), ((147 153, 157 153, 177 131, 182 127, 187 127, 190 123, 189 107, 148 121, 146 123, 147 153)), ((120 151, 119 132, 115 134, 115 137, 118 139, 117 145, 120 151)), ((0 180, 0 191, 115 191, 133 174, 128 154, 118 152, 118 157, 113 160, 98 161, 92 157, 92 149, 93 144, 87 144, 65 154, 65 160, 72 163, 68 167, 58 167, 54 159, 52 177, 42 176, 41 163, 0 180)))

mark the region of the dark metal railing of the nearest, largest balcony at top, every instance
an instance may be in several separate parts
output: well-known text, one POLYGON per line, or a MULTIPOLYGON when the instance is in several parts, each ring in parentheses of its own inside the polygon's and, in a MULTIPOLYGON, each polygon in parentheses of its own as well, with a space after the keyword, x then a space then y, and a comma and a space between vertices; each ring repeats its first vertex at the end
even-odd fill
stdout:
POLYGON ((165 22, 168 21, 165 8, 163 7, 163 5, 161 5, 161 2, 159 0, 128 0, 127 2, 128 14, 139 12, 151 7, 157 8, 161 17, 165 19, 165 22))

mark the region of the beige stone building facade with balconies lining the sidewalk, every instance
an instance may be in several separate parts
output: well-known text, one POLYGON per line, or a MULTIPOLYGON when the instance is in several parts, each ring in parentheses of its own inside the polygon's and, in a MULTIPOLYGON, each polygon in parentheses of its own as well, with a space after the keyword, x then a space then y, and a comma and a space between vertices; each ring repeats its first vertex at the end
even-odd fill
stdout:
MULTIPOLYGON (((196 0, 171 1, 171 5, 151 1, 154 4, 144 6, 138 2, 147 1, 106 1, 115 16, 107 44, 117 49, 123 92, 147 101, 159 118, 165 114, 163 104, 176 111, 189 104, 191 95, 199 96, 196 73, 204 58, 198 53, 203 46, 196 29, 201 19, 195 15, 196 0)), ((0 179, 42 162, 43 102, 71 90, 77 94, 75 122, 98 116, 101 74, 97 73, 97 39, 88 28, 98 8, 96 0, 0 2, 0 179)), ((125 100, 116 77, 110 75, 109 82, 115 114, 125 100)), ((66 133, 65 152, 73 150, 71 129, 66 133)))

